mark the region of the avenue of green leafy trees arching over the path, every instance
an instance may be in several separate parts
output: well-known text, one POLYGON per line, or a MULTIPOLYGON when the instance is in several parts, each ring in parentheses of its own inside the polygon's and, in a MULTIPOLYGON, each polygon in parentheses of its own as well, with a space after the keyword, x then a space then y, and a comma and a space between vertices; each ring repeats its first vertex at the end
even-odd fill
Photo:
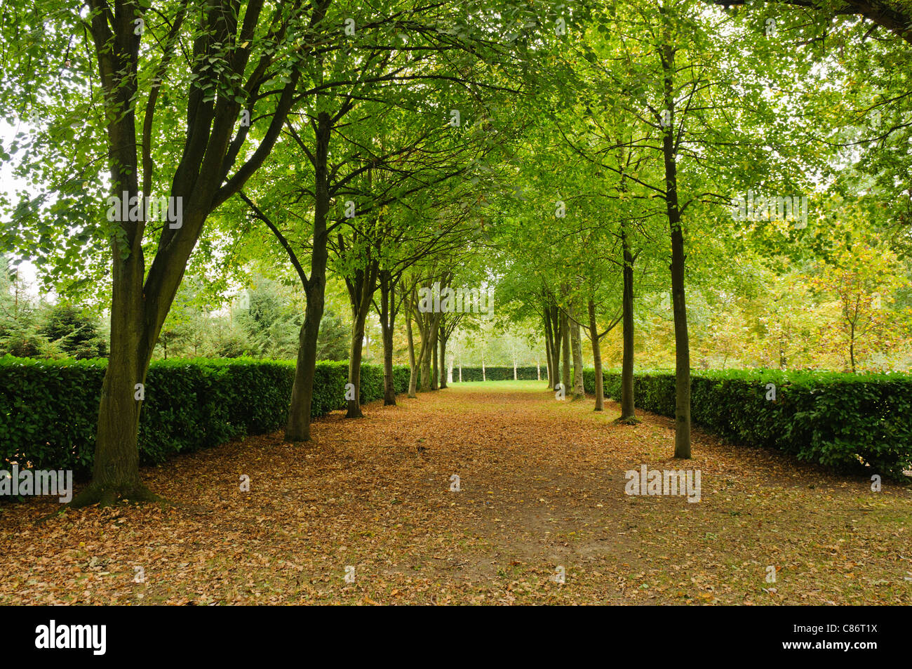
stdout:
POLYGON ((625 422, 635 365, 671 367, 679 458, 693 368, 912 359, 907 3, 36 0, 0 21, 0 352, 109 361, 75 504, 154 498, 153 357, 295 360, 294 443, 319 360, 348 361, 355 398, 382 364, 387 404, 394 363, 409 396, 518 364, 580 399, 594 367, 596 411, 618 367, 625 422), (20 294, 24 260, 53 302, 20 294))

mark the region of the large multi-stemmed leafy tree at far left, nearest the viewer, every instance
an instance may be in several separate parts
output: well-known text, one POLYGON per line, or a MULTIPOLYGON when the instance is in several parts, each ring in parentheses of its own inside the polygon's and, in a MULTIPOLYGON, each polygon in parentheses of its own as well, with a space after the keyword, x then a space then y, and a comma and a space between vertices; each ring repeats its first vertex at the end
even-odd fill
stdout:
MULTIPOLYGON (((80 225, 83 241, 109 236, 109 364, 92 481, 74 506, 155 498, 140 480, 137 448, 152 351, 206 219, 272 151, 295 102, 297 66, 316 37, 297 2, 268 17, 259 0, 151 5, 90 0, 86 16, 57 6, 53 12, 10 8, 16 21, 4 24, 7 43, 21 29, 32 30, 28 47, 5 48, 12 55, 6 76, 30 83, 5 92, 4 106, 51 120, 48 135, 58 143, 56 151, 47 142, 40 147, 45 166, 26 160, 19 169, 57 184, 51 210, 70 217, 61 229, 57 216, 43 211, 43 194, 20 203, 14 224, 47 240, 80 225), (48 18, 50 29, 44 26, 48 18), (67 48, 73 75, 62 81, 56 59, 34 55, 42 49, 62 53, 53 42, 71 35, 85 43, 67 48), (71 104, 76 96, 97 99, 103 115, 86 117, 71 104), (86 132, 70 130, 76 118, 86 132), (254 139, 259 141, 251 147, 254 139), (49 155, 55 153, 67 160, 55 161, 49 155), (102 179, 95 165, 105 158, 109 173, 102 179), (106 182, 109 198, 87 197, 87 188, 103 193, 106 182), (153 192, 168 195, 162 200, 153 192), (98 226, 100 215, 110 225, 98 226)), ((79 247, 69 248, 73 260, 79 247)))

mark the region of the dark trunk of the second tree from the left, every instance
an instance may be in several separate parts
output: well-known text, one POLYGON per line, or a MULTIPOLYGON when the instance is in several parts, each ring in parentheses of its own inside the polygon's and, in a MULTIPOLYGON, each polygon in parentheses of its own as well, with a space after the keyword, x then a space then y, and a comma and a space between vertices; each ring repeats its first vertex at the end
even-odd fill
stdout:
POLYGON ((310 277, 305 286, 307 304, 304 323, 298 336, 295 382, 288 406, 285 426, 286 442, 310 440, 310 412, 314 399, 316 374, 316 338, 326 299, 326 215, 329 213, 329 171, 327 157, 332 120, 321 111, 316 120, 315 188, 314 188, 314 245, 310 255, 310 277))

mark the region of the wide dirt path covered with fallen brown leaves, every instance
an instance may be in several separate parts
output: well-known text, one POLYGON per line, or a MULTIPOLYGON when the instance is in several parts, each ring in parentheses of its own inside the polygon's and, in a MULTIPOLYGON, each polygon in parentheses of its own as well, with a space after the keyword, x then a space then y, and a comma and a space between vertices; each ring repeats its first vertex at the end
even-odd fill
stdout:
POLYGON ((912 604, 908 488, 699 433, 673 461, 670 421, 592 405, 457 384, 144 471, 184 507, 0 506, 0 603, 912 604), (640 465, 700 502, 626 495, 640 465))

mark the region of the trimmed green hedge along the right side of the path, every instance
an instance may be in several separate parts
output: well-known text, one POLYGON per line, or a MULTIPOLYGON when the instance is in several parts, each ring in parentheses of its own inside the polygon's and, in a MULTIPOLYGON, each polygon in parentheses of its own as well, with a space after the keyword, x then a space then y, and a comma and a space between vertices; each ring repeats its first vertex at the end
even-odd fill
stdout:
MULTIPOLYGON (((621 375, 606 370, 605 395, 620 399, 621 375)), ((586 370, 587 392, 596 372, 586 370)), ((673 418, 675 374, 634 376, 637 407, 673 418)), ((858 465, 902 476, 912 468, 912 375, 829 371, 691 371, 690 417, 738 444, 768 446, 837 470, 858 465), (767 400, 767 384, 775 400, 767 400)))

